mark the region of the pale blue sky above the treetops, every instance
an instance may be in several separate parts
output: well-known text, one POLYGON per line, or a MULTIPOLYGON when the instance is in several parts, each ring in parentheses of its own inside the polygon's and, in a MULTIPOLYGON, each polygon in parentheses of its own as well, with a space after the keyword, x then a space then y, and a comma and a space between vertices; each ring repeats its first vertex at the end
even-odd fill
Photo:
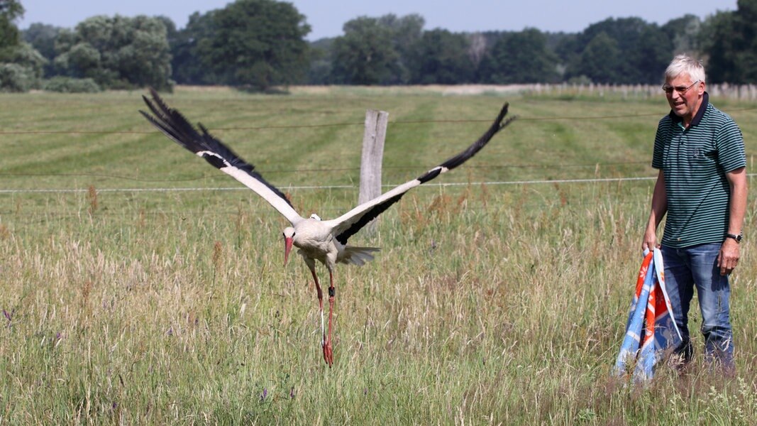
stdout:
MULTIPOLYGON (((95 15, 170 17, 176 27, 185 27, 195 11, 223 8, 229 0, 20 0, 26 10, 16 23, 21 29, 31 23, 76 27, 95 15)), ((695 14, 702 19, 716 11, 735 11, 737 0, 289 0, 306 17, 311 33, 306 39, 341 36, 342 26, 360 16, 380 17, 419 14, 425 30, 442 28, 453 33, 541 31, 578 33, 609 17, 640 17, 648 23, 695 14)))

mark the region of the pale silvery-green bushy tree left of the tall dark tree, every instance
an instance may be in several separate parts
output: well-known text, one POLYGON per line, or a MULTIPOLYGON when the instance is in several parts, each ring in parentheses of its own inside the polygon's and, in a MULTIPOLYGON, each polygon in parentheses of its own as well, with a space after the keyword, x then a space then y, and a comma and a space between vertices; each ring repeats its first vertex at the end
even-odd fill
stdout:
POLYGON ((73 33, 58 35, 55 67, 69 77, 92 78, 100 86, 170 89, 170 52, 160 18, 90 17, 73 33))

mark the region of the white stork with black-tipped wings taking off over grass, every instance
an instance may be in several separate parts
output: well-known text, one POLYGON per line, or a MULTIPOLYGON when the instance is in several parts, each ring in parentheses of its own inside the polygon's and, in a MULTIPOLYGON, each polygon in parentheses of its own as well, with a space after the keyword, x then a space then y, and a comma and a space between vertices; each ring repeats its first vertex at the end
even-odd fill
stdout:
POLYGON ((492 136, 497 134, 497 132, 502 130, 515 119, 515 117, 512 117, 503 121, 507 114, 508 104, 503 105, 500 114, 497 115, 497 119, 491 124, 489 130, 487 130, 483 136, 465 151, 444 161, 442 164, 425 172, 425 174, 422 174, 420 177, 403 183, 369 202, 364 202, 363 204, 358 205, 338 218, 330 221, 322 221, 317 215, 311 215, 310 218, 303 218, 294 210, 291 202, 289 202, 286 196, 275 186, 263 179, 263 177, 254 170, 255 168, 252 164, 249 164, 247 161, 240 158, 232 152, 231 149, 226 147, 226 145, 221 143, 219 139, 210 135, 202 124, 198 124, 200 129, 198 132, 198 130, 196 130, 195 127, 192 127, 192 124, 189 124, 179 111, 169 108, 163 99, 160 99, 157 92, 153 89, 151 89, 150 92, 152 100, 148 99, 146 96, 142 96, 142 98, 145 99, 145 103, 154 115, 150 115, 145 111, 139 112, 141 112, 151 124, 160 129, 160 131, 165 133, 170 139, 173 139, 174 142, 189 151, 194 152, 214 167, 220 169, 220 171, 231 175, 231 177, 243 183, 245 186, 248 186, 248 188, 255 191, 257 195, 263 197, 266 202, 273 205, 273 208, 276 208, 276 210, 284 215, 284 217, 291 223, 291 227, 286 227, 284 229, 284 265, 286 265, 289 257, 291 246, 294 245, 298 247, 298 252, 304 258, 307 268, 310 268, 310 274, 313 274, 321 314, 321 347, 323 349, 323 359, 329 367, 331 367, 334 362, 331 337, 332 311, 334 308, 335 296, 335 265, 337 263, 363 265, 365 262, 369 262, 373 259, 373 252, 378 251, 378 249, 372 247, 347 246, 347 240, 350 236, 357 233, 360 228, 364 227, 389 208, 389 206, 400 201, 400 198, 402 198, 407 191, 415 186, 419 186, 422 183, 434 179, 439 174, 450 171, 460 164, 463 164, 466 160, 475 155, 476 152, 481 150, 481 148, 489 142, 492 136), (326 330, 324 329, 323 324, 323 295, 318 276, 316 275, 316 260, 323 265, 326 265, 326 269, 329 270, 328 335, 326 335, 326 330))

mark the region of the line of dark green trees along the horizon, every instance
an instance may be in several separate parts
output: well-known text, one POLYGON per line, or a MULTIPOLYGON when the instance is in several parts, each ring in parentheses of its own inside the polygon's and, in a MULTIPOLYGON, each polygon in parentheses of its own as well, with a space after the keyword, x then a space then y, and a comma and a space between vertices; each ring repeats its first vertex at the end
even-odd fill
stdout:
POLYGON ((671 58, 706 61, 710 83, 757 83, 757 0, 663 25, 608 18, 579 33, 453 33, 418 14, 357 17, 307 42, 307 17, 276 0, 236 0, 189 17, 89 17, 73 29, 14 24, 0 0, 0 89, 82 92, 175 84, 265 91, 291 84, 657 84, 671 58))

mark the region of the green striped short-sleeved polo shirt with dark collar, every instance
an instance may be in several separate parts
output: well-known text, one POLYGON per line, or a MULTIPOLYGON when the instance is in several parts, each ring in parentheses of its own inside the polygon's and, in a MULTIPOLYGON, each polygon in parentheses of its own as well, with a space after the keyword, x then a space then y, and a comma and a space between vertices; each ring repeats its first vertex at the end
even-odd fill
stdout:
POLYGON ((707 92, 688 129, 673 111, 662 117, 652 158, 652 167, 665 174, 668 196, 662 244, 681 248, 722 243, 731 200, 725 174, 744 166, 741 130, 709 103, 707 92))

